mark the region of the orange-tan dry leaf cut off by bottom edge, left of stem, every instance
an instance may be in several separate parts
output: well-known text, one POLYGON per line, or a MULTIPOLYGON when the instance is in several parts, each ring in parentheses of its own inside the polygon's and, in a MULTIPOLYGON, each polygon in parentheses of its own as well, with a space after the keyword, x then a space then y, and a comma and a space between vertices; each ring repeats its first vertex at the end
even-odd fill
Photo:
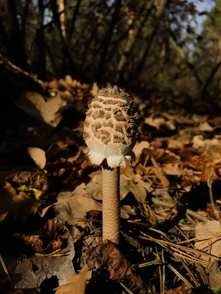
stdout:
POLYGON ((84 294, 86 290, 86 284, 91 279, 92 270, 88 269, 87 265, 84 265, 82 270, 78 274, 73 274, 68 279, 69 284, 62 285, 55 288, 56 294, 84 294))

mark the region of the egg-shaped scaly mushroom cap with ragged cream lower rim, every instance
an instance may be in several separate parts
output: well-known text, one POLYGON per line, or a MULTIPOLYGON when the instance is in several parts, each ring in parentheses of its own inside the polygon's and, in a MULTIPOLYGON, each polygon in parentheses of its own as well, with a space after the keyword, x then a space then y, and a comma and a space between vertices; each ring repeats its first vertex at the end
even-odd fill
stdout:
POLYGON ((135 159, 132 151, 138 138, 138 114, 133 100, 122 89, 109 85, 93 98, 86 112, 83 139, 93 164, 104 159, 111 168, 135 159))

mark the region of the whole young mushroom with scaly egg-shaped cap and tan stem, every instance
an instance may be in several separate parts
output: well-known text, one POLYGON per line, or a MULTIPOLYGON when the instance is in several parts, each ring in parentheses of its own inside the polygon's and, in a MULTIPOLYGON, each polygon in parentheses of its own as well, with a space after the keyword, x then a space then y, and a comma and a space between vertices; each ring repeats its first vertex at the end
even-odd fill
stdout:
POLYGON ((132 164, 138 138, 138 114, 122 89, 99 90, 86 112, 83 139, 92 164, 102 166, 103 242, 120 242, 120 165, 132 164))

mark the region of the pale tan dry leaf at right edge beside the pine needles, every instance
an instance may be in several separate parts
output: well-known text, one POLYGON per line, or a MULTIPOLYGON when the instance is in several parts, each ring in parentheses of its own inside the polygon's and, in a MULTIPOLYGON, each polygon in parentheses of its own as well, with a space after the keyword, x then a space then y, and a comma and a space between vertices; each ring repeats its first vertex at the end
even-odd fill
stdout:
MULTIPOLYGON (((203 250, 212 255, 221 256, 221 224, 219 221, 208 221, 207 223, 199 222, 195 226, 195 237, 203 237, 202 241, 195 243, 195 248, 198 250, 203 250), (213 237, 214 235, 214 237, 213 237)), ((203 257, 206 261, 209 258, 203 257)), ((211 257, 212 259, 212 257, 211 257)))

